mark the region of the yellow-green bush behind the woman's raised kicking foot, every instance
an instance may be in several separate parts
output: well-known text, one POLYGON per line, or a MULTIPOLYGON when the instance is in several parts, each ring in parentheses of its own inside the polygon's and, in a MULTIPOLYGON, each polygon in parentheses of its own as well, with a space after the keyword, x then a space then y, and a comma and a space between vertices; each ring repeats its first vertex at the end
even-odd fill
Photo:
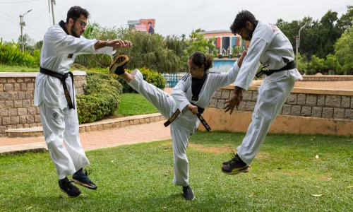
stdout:
MULTIPOLYGON (((133 70, 125 69, 128 73, 131 73, 133 70)), ((160 73, 157 73, 157 71, 153 71, 151 69, 146 69, 146 68, 140 68, 138 69, 143 75, 143 79, 151 83, 153 86, 156 86, 157 88, 164 89, 165 88, 165 80, 163 76, 160 73)), ((128 84, 118 76, 116 76, 118 81, 121 83, 123 86, 123 93, 137 93, 136 90, 133 90, 128 84)))

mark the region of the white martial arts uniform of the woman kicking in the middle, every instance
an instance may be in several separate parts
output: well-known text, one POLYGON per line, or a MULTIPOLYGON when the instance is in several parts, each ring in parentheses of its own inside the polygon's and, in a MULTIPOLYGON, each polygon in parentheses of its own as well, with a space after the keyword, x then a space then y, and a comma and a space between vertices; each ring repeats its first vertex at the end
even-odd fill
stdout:
POLYGON ((215 91, 232 83, 237 78, 238 71, 239 67, 236 62, 227 73, 208 73, 197 101, 191 100, 193 93, 190 73, 187 73, 173 88, 172 96, 143 81, 143 76, 137 69, 131 73, 135 78, 128 85, 149 100, 163 117, 169 119, 177 109, 181 111, 177 119, 170 125, 174 153, 174 184, 178 186, 189 185, 189 162, 186 158, 186 147, 189 143, 189 137, 200 124, 198 117, 191 113, 186 105, 192 102, 198 107, 207 107, 215 91))

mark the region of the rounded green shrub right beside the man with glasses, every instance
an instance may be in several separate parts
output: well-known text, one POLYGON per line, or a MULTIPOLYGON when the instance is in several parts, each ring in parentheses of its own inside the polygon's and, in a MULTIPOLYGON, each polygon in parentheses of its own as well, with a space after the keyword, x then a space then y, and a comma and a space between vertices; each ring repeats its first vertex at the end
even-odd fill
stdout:
POLYGON ((87 71, 86 95, 77 95, 80 124, 95 122, 119 108, 121 84, 113 76, 87 71))

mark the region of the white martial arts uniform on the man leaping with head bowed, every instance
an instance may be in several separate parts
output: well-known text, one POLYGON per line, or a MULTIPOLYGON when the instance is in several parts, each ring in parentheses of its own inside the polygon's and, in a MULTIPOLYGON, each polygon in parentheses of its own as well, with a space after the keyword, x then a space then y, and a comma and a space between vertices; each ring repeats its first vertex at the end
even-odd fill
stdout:
MULTIPOLYGON (((268 69, 278 70, 290 61, 294 61, 294 52, 288 38, 275 25, 258 21, 234 86, 247 90, 260 62, 268 69)), ((271 124, 291 93, 295 81, 301 79, 297 69, 279 71, 265 77, 258 89, 252 122, 241 146, 238 147, 238 155, 246 164, 251 164, 255 158, 271 124)))

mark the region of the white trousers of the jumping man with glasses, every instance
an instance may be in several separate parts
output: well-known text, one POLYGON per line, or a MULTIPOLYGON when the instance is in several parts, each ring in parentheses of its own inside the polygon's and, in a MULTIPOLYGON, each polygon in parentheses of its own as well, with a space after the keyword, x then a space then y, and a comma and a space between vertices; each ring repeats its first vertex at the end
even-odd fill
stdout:
POLYGON ((59 179, 89 165, 80 143, 77 110, 50 108, 44 102, 39 107, 45 143, 59 179))

